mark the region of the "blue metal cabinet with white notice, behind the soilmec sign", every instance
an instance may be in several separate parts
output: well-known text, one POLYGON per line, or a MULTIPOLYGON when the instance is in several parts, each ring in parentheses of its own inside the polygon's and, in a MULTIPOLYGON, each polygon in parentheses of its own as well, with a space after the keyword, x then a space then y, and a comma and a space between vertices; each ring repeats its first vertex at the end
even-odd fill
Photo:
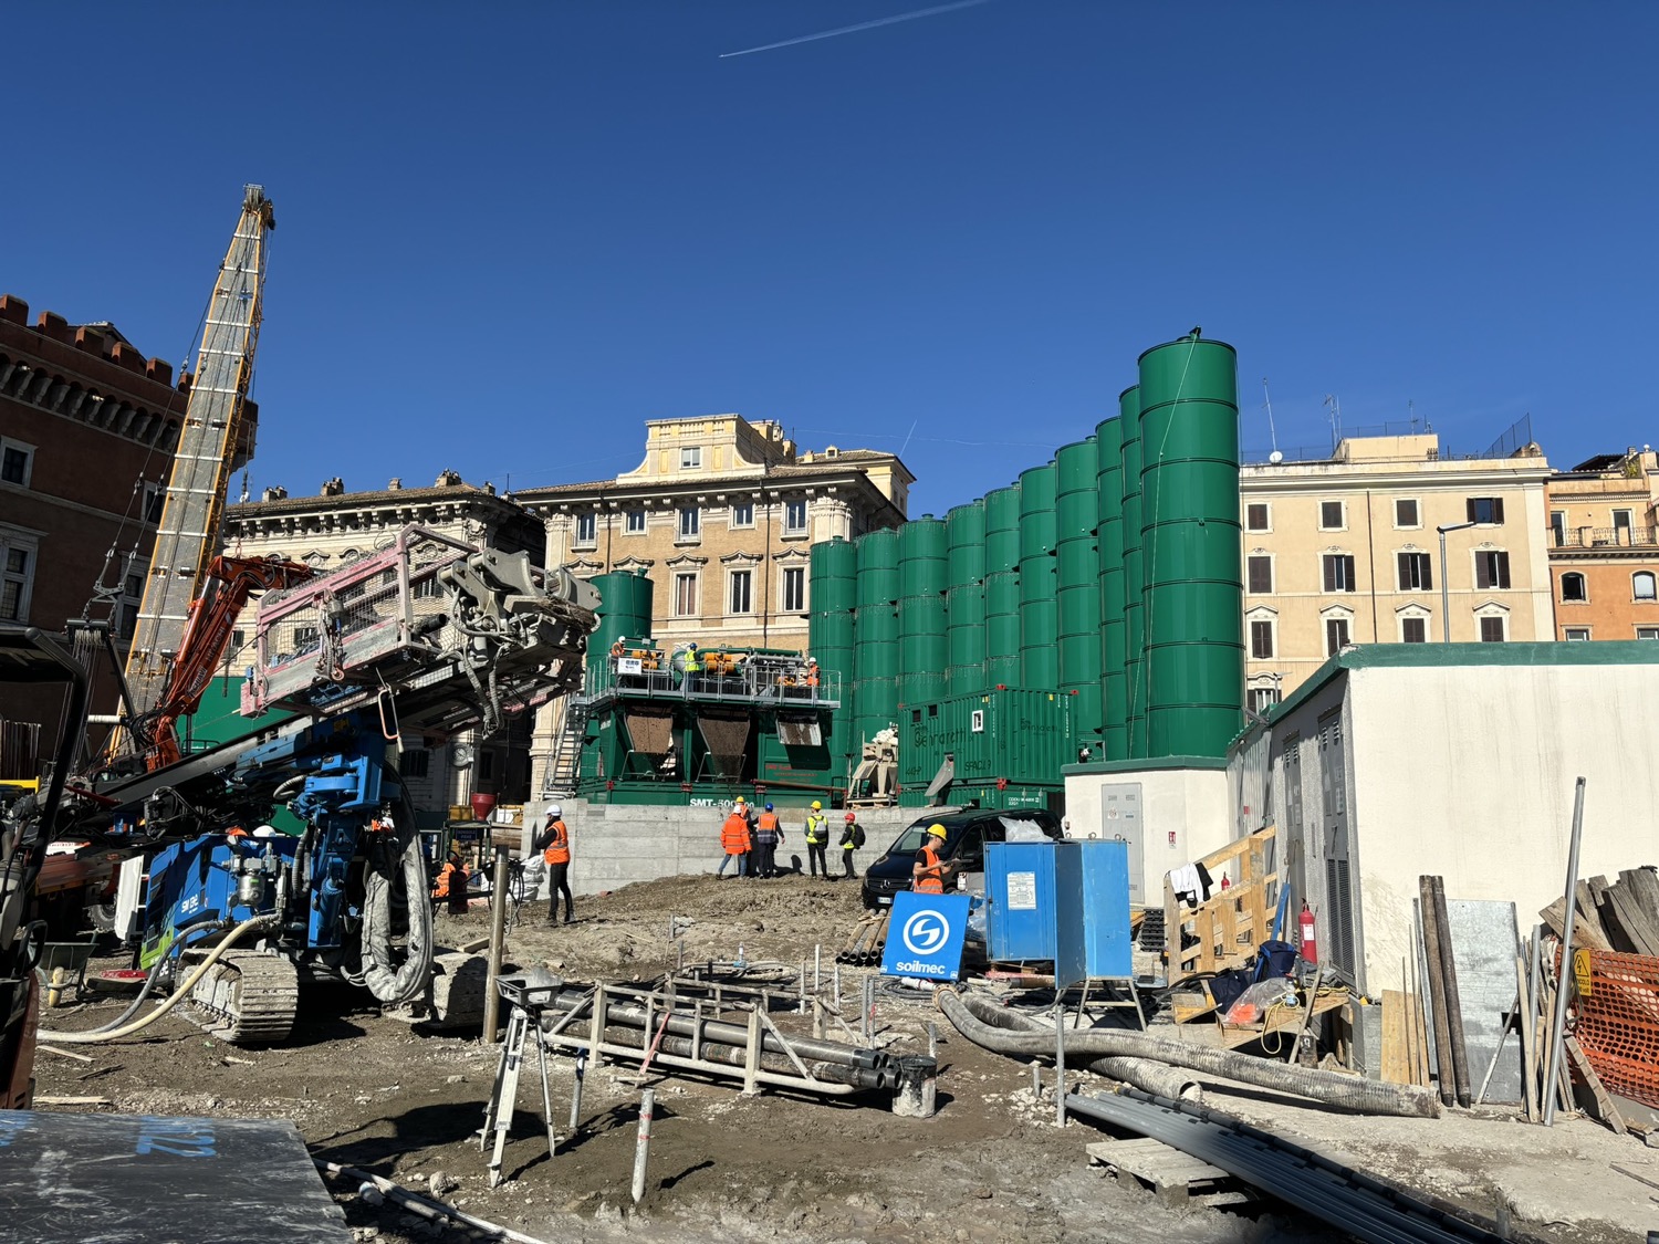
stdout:
POLYGON ((1133 975, 1128 843, 987 843, 985 899, 992 962, 1053 962, 1065 984, 1133 975))

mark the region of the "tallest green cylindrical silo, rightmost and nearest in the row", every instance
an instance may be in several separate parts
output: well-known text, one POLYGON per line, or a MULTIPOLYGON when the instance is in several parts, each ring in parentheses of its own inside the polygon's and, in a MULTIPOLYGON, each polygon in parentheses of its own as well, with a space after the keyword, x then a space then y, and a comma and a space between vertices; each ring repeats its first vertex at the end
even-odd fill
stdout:
POLYGON ((1243 725, 1238 355, 1140 357, 1148 756, 1221 756, 1243 725))

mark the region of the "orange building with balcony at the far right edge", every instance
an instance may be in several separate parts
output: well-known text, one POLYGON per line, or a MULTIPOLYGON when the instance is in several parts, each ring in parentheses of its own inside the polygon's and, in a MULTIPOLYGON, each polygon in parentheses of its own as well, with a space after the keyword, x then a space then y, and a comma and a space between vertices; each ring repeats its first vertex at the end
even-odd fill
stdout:
POLYGON ((1659 639, 1659 453, 1629 448, 1550 478, 1556 639, 1659 639))

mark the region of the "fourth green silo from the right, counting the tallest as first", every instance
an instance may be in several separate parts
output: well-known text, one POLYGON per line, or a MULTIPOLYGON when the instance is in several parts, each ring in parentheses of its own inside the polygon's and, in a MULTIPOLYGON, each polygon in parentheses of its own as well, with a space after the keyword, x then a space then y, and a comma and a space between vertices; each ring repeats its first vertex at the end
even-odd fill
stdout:
POLYGON ((1093 436, 1060 446, 1055 461, 1055 604, 1060 690, 1072 698, 1072 745, 1095 746, 1100 718, 1100 454, 1093 436))

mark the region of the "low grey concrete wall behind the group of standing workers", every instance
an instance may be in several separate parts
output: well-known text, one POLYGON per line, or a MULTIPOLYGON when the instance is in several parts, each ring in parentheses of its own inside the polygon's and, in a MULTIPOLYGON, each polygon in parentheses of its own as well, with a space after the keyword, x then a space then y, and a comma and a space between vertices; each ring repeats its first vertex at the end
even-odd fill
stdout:
MULTIPOLYGON (((571 829, 571 891, 574 894, 599 894, 620 889, 635 881, 675 877, 697 872, 713 872, 720 867, 720 824, 730 808, 674 808, 640 804, 604 804, 586 799, 559 799, 564 823, 571 829)), ((934 809, 937 814, 944 809, 934 809)), ((539 831, 547 813, 547 801, 524 806, 528 826, 539 831)), ((825 853, 830 869, 839 876, 843 818, 846 813, 828 809, 830 848, 825 853)), ((899 833, 922 816, 926 808, 874 808, 858 814, 864 826, 864 849, 853 853, 853 871, 864 874, 864 864, 881 856, 899 833)), ((790 809, 783 819, 783 846, 778 848, 778 867, 798 867, 806 872, 805 816, 790 809)), ((727 867, 732 876, 732 867, 727 867)), ((546 894, 546 884, 542 886, 546 894)))

